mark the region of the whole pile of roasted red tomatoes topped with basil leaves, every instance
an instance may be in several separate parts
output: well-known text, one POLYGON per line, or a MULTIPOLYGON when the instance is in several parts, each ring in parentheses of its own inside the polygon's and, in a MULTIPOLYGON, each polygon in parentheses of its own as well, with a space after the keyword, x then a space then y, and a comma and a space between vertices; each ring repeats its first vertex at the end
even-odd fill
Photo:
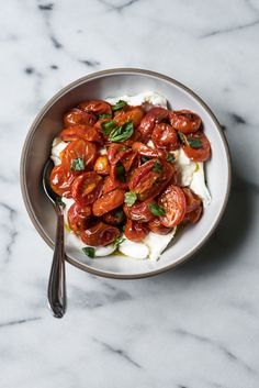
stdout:
POLYGON ((202 201, 178 185, 172 153, 182 147, 195 162, 210 157, 194 112, 86 101, 65 114, 58 136, 67 146, 50 186, 75 200, 68 224, 85 244, 108 245, 122 233, 139 242, 149 231, 167 234, 180 223, 199 221, 202 201))

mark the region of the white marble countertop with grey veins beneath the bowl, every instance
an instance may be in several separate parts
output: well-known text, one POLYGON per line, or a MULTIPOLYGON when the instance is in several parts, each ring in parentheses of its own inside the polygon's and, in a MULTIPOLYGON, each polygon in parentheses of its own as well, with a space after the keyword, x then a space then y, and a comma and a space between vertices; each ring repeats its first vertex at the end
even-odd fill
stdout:
POLYGON ((258 1, 12 0, 0 24, 1 388, 258 388, 258 1), (111 67, 165 73, 207 102, 233 192, 210 243, 174 271, 123 281, 67 266, 68 313, 56 320, 21 146, 56 91, 111 67))

